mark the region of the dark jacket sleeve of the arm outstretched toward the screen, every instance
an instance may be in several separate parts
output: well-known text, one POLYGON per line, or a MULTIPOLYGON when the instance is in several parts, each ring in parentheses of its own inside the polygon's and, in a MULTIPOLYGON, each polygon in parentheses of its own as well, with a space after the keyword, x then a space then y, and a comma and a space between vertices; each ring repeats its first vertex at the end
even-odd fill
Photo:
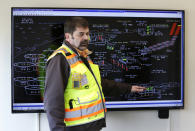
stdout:
POLYGON ((105 96, 120 96, 120 94, 130 93, 132 87, 128 83, 120 83, 103 78, 101 85, 105 96))

